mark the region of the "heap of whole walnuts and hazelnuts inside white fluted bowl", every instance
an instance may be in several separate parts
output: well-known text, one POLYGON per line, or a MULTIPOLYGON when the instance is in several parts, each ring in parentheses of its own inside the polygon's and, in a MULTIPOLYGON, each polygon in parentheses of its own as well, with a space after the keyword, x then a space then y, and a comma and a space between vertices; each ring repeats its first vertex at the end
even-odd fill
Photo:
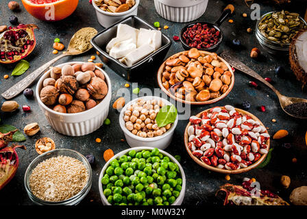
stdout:
POLYGON ((78 113, 95 107, 108 93, 105 76, 93 62, 51 68, 40 100, 56 112, 78 113))

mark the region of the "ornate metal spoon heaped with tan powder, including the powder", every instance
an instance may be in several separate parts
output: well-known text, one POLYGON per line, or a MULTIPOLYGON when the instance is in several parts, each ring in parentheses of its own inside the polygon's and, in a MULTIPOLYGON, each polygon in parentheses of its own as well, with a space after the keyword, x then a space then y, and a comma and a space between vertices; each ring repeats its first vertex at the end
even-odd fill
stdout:
POLYGON ((47 70, 53 63, 60 60, 62 57, 68 55, 80 55, 82 53, 86 53, 90 49, 93 48, 92 44, 90 44, 90 40, 98 33, 98 31, 93 27, 84 27, 79 29, 73 37, 69 41, 69 47, 66 51, 64 51, 61 55, 58 55, 53 60, 47 62, 34 70, 34 72, 30 73, 12 86, 10 89, 6 90, 1 94, 5 99, 12 99, 14 96, 17 96, 19 93, 23 92, 25 88, 29 87, 33 81, 35 81, 45 70, 47 70))

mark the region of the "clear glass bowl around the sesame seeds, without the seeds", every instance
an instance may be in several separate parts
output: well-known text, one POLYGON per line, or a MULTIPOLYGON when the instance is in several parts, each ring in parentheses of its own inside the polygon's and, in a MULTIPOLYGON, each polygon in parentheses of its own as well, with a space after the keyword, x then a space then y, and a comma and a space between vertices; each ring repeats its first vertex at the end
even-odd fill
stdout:
POLYGON ((39 155, 36 157, 31 164, 27 167, 27 170, 25 171, 25 190, 27 191, 27 194, 29 198, 36 204, 36 205, 77 205, 82 201, 82 199, 90 192, 90 187, 92 186, 92 168, 90 167, 90 164, 88 163, 88 160, 84 155, 81 153, 78 153, 77 151, 73 151, 70 149, 55 149, 46 153, 43 153, 42 155, 39 155), (73 157, 75 159, 78 159, 80 162, 84 164, 86 169, 88 170, 88 181, 84 188, 75 196, 66 199, 64 201, 58 201, 58 202, 52 202, 52 201, 44 201, 38 197, 36 197, 29 186, 29 177, 32 173, 32 170, 36 168, 38 164, 45 161, 46 159, 49 159, 51 157, 58 157, 58 156, 67 156, 67 157, 73 157))

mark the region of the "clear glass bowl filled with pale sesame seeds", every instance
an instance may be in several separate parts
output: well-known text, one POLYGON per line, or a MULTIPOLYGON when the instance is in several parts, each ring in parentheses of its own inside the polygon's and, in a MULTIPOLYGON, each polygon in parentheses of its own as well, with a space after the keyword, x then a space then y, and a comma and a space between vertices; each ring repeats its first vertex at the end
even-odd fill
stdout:
POLYGON ((90 191, 92 169, 81 153, 56 149, 29 164, 24 183, 37 205, 77 205, 90 191))

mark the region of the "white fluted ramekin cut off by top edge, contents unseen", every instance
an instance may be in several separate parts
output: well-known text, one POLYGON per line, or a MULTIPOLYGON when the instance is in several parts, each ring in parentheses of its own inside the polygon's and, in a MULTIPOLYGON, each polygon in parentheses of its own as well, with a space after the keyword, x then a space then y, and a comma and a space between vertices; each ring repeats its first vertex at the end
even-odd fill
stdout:
POLYGON ((208 0, 154 0, 156 11, 173 22, 194 21, 206 11, 208 0))

